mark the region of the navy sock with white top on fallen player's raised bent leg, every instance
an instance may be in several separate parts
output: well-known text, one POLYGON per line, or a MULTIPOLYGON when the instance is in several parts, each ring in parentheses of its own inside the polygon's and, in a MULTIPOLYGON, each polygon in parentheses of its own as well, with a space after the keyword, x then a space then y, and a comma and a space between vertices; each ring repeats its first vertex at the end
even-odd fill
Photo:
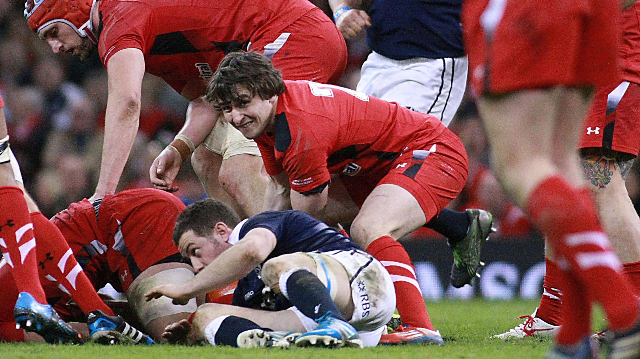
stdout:
POLYGON ((296 270, 289 277, 281 275, 280 291, 302 314, 311 319, 319 319, 331 312, 330 316, 346 321, 333 302, 327 287, 308 270, 296 270), (286 282, 282 283, 284 280, 286 282))

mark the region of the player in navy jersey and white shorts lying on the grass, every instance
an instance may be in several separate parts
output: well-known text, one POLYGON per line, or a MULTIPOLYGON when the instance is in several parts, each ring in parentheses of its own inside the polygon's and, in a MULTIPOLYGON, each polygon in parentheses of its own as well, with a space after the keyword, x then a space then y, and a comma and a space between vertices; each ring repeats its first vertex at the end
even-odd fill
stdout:
POLYGON ((301 211, 267 211, 240 222, 227 204, 205 199, 180 214, 173 241, 198 274, 152 289, 147 300, 185 303, 239 282, 234 305, 198 307, 193 324, 168 326, 171 340, 189 332, 191 342, 212 345, 375 346, 394 312, 394 287, 382 264, 301 211))

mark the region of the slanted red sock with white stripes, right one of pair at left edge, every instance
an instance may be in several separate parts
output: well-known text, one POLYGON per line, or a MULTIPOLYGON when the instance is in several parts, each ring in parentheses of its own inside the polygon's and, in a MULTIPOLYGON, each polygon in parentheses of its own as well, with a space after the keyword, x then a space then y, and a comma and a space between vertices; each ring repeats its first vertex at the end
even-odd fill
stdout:
POLYGON ((31 213, 31 221, 38 238, 38 265, 44 271, 46 280, 56 282, 58 288, 69 294, 84 314, 102 310, 104 314, 113 316, 113 310, 100 299, 77 263, 60 229, 40 212, 31 213))

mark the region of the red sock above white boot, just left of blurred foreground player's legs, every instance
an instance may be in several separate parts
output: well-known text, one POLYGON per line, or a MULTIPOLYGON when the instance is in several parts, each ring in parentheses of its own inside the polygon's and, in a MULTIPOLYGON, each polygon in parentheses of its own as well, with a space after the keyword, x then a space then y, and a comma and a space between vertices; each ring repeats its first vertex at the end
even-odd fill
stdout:
POLYGON ((536 317, 549 323, 550 325, 562 324, 562 299, 563 293, 560 289, 562 273, 554 261, 545 258, 545 281, 542 284, 542 298, 536 317))

